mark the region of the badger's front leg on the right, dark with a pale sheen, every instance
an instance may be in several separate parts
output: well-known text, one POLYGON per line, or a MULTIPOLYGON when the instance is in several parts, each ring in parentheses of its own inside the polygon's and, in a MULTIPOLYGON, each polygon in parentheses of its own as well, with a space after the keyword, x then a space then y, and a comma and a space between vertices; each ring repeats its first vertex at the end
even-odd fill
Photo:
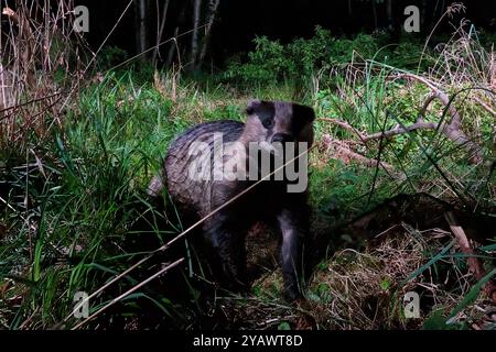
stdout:
POLYGON ((284 208, 278 215, 278 221, 282 232, 284 296, 292 301, 301 296, 302 251, 305 235, 309 232, 308 211, 302 208, 284 208))

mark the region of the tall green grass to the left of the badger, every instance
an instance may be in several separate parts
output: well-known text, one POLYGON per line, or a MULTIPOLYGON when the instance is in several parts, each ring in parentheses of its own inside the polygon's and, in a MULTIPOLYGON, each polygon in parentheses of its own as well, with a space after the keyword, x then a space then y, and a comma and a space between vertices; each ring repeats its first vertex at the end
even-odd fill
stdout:
MULTIPOLYGON (((142 257, 141 251, 157 249, 181 230, 181 219, 164 218, 149 204, 148 183, 175 134, 203 121, 240 119, 241 109, 217 88, 203 92, 193 82, 169 77, 157 74, 153 81, 138 84, 132 70, 109 73, 80 91, 77 106, 43 144, 46 154, 29 155, 25 163, 11 158, 18 163, 13 167, 2 165, 8 235, 2 239, 0 276, 9 297, 22 297, 19 307, 3 307, 9 328, 61 322, 77 292, 91 293, 142 257), (168 89, 172 85, 174 94, 168 89), (145 226, 134 227, 140 220, 145 226)), ((129 276, 119 287, 130 283, 137 279, 129 276)), ((148 288, 132 297, 182 316, 148 288)), ((132 297, 127 298, 130 304, 132 297)), ((91 311, 110 298, 97 297, 91 311)))

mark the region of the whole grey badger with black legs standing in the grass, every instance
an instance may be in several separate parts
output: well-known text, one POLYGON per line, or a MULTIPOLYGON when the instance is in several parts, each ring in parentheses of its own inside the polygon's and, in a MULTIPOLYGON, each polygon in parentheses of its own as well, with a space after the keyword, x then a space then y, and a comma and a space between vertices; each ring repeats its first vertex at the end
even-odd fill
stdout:
POLYGON ((293 102, 252 100, 246 116, 246 123, 201 123, 179 135, 148 193, 159 196, 165 186, 181 213, 206 217, 203 237, 229 288, 247 288, 245 240, 250 228, 257 222, 276 224, 282 235, 284 297, 295 300, 301 297, 310 216, 302 182, 308 177, 304 151, 313 143, 315 114, 293 102))

